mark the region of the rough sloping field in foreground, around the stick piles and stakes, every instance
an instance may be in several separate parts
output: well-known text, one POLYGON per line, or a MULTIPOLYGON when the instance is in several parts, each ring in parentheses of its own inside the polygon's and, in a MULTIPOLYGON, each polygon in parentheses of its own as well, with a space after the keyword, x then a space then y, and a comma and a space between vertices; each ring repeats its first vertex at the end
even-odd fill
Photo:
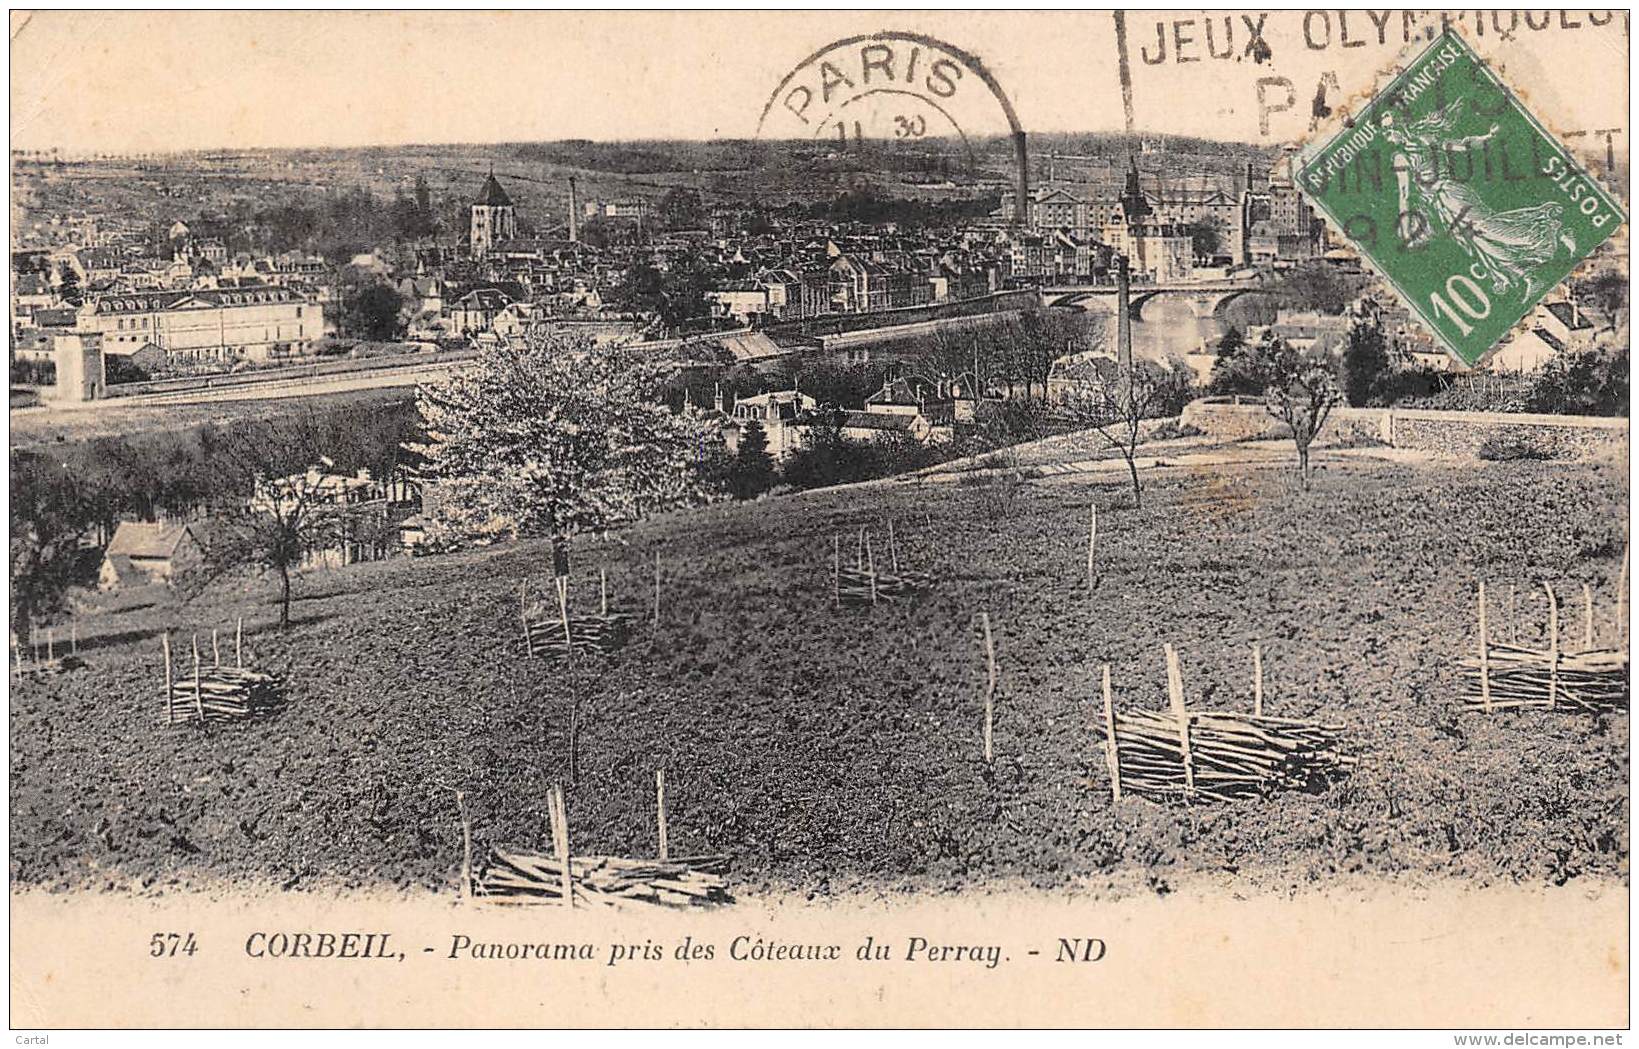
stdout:
MULTIPOLYGON (((634 529, 606 551, 611 590, 647 615, 659 546, 664 626, 580 675, 577 849, 647 854, 664 764, 672 847, 733 852, 749 892, 1626 877, 1626 715, 1464 715, 1455 669, 1480 574, 1498 605, 1510 580, 1611 593, 1614 469, 1337 465, 1308 495, 1287 472, 1178 470, 1151 482, 1142 511, 1119 505, 1118 488, 939 485, 634 529), (1093 595, 1090 492, 1105 508, 1093 595), (831 536, 869 523, 880 544, 888 515, 938 590, 834 613, 831 536), (1001 672, 993 769, 978 761, 982 610, 1001 672), (1113 808, 1088 733, 1098 664, 1113 664, 1119 705, 1162 705, 1170 641, 1192 703, 1242 708, 1252 639, 1270 713, 1347 724, 1354 777, 1270 803, 1113 808)), ((590 543, 575 556, 592 608, 605 556, 590 543)), ((443 888, 461 856, 457 788, 480 846, 544 842, 546 788, 567 779, 569 680, 523 657, 518 580, 546 564, 526 543, 315 575, 284 636, 266 590, 82 623, 90 669, 13 690, 13 877, 443 888), (159 724, 156 631, 231 629, 236 610, 290 706, 203 734, 159 724)), ((1541 598, 1523 608, 1542 620, 1541 598)), ((1580 603, 1565 618, 1580 624, 1580 603)))

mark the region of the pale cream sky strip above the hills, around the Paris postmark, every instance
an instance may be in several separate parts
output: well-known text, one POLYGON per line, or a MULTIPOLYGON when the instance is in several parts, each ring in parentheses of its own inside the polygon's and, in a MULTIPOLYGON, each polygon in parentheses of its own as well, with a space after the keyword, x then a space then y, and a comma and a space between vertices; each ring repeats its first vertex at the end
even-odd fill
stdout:
MULTIPOLYGON (((885 30, 975 54, 1033 133, 1131 118, 1272 146, 1316 136, 1311 100, 1336 115, 1447 20, 1549 128, 1626 152, 1626 15, 1387 10, 13 11, 11 146, 751 138, 803 59, 885 30)), ((1000 108, 959 102, 964 133, 1006 131, 1000 108)))

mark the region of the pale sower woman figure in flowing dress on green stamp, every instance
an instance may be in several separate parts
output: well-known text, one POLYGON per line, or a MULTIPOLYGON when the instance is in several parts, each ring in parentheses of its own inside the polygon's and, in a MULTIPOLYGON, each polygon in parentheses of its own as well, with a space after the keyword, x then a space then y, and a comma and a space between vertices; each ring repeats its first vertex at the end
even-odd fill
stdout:
POLYGON ((1395 121, 1393 113, 1383 115, 1383 138, 1398 146, 1393 167, 1406 247, 1419 247, 1444 228, 1470 259, 1482 264, 1483 272, 1475 277, 1490 277, 1493 292, 1523 285, 1523 297, 1529 298, 1539 290, 1534 270, 1554 259, 1560 244, 1572 252, 1577 249, 1564 229, 1565 208, 1550 200, 1531 208, 1493 211, 1472 185, 1459 182, 1451 162, 1441 164, 1441 152, 1483 149, 1496 134, 1496 125, 1491 125, 1485 134, 1452 136, 1460 105, 1459 98, 1444 110, 1403 125, 1395 121))

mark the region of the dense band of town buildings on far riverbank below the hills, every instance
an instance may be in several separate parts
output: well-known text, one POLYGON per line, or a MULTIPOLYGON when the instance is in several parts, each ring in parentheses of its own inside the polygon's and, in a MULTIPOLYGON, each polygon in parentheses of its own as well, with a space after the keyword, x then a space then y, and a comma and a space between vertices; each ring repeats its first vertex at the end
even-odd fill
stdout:
MULTIPOLYGON (((667 200, 583 198, 575 179, 565 180, 567 208, 523 215, 510 179, 492 169, 464 208, 464 229, 346 257, 229 251, 187 218, 156 228, 120 213, 64 215, 13 244, 13 380, 23 362, 59 398, 102 397, 121 382, 347 352, 359 339, 482 347, 541 323, 638 341, 808 333, 833 316, 1108 285, 1116 259, 1134 285, 1246 280, 1316 259, 1357 269, 1293 185, 1290 162, 1282 154, 1265 172, 1247 162, 1234 174, 1219 164, 1162 177, 1128 157, 1124 170, 1105 161, 1101 180, 1057 179, 1049 167, 1024 200, 1003 190, 995 211, 941 223, 854 221, 823 207, 708 203, 674 190, 692 197, 680 218, 667 200), (390 336, 361 334, 352 320, 367 285, 392 290, 390 336)), ((1537 320, 1506 361, 1528 367, 1578 343, 1577 321, 1537 320)), ((1428 357, 1439 359, 1431 347, 1428 357)), ((25 385, 30 375, 25 367, 25 385)))

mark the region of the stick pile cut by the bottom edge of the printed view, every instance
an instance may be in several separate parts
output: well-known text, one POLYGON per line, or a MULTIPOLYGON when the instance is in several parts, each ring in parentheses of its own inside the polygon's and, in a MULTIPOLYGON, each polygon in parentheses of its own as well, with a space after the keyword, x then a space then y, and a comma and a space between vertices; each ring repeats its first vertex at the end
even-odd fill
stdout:
MULTIPOLYGON (((726 856, 680 859, 624 859, 620 856, 575 856, 569 861, 567 885, 574 901, 592 906, 620 906, 631 900, 669 906, 729 903, 723 872, 726 856)), ((495 846, 488 864, 477 874, 472 895, 505 903, 564 901, 564 864, 510 846, 495 846)))

